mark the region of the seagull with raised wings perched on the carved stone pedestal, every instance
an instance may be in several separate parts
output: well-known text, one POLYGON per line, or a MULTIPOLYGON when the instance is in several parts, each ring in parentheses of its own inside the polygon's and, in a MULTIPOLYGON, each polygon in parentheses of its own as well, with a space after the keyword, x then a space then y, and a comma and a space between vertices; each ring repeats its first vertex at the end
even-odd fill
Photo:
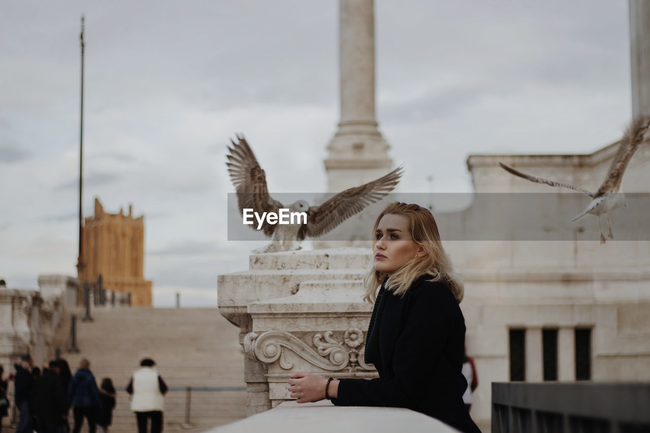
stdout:
MULTIPOLYGON (((253 209, 253 212, 278 213, 279 209, 289 209, 290 212, 307 213, 307 223, 304 224, 269 224, 262 222, 261 231, 266 237, 273 237, 272 243, 254 250, 255 253, 300 250, 298 241, 305 237, 318 237, 331 231, 347 218, 361 212, 370 203, 375 203, 395 188, 402 176, 402 168, 398 167, 389 174, 359 187, 339 192, 330 200, 318 206, 310 206, 305 200, 298 200, 289 206, 274 200, 266 188, 266 175, 257 163, 255 154, 248 146, 244 137, 237 136, 239 142, 233 140, 232 148, 228 147, 228 172, 237 190, 239 213, 243 209, 253 209)), ((253 227, 255 230, 255 227, 253 227)))

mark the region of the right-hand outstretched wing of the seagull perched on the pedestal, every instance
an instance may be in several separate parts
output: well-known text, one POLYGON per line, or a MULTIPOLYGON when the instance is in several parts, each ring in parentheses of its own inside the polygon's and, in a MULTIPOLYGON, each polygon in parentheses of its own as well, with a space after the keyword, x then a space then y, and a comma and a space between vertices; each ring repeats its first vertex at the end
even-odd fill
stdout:
POLYGON ((402 173, 402 167, 398 167, 379 179, 339 192, 322 205, 310 206, 307 224, 298 231, 298 241, 324 235, 370 203, 382 200, 395 188, 402 173))

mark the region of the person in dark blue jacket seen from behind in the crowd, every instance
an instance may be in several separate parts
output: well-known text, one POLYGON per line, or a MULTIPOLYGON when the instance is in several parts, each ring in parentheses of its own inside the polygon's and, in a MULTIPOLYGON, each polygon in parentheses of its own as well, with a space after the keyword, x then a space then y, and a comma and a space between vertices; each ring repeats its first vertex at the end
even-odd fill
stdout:
POLYGON ((85 417, 88 421, 88 431, 95 433, 96 416, 101 408, 101 401, 95 376, 90 372, 90 361, 86 358, 79 362, 79 369, 72 376, 68 400, 72 404, 72 413, 75 417, 72 431, 79 433, 85 417))

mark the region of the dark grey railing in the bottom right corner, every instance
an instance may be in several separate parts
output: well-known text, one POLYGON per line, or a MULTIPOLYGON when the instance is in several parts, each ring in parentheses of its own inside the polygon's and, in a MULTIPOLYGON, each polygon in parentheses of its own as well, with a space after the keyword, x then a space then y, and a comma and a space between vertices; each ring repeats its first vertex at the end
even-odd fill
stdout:
POLYGON ((650 431, 650 384, 492 384, 492 433, 650 431))

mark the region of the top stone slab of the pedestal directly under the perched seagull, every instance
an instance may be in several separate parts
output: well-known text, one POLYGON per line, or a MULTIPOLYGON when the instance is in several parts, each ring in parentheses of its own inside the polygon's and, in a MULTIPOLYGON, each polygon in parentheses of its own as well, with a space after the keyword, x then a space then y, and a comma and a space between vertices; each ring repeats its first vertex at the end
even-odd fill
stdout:
POLYGON ((285 251, 251 254, 250 269, 365 269, 370 248, 328 248, 313 251, 285 251))

